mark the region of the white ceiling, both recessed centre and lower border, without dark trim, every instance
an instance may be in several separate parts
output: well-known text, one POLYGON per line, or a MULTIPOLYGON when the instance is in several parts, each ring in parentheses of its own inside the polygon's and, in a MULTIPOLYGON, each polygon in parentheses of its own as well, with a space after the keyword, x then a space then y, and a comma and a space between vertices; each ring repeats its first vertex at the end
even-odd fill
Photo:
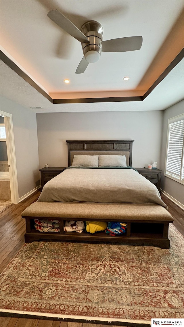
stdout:
MULTIPOLYGON (((0 0, 0 43, 48 94, 126 90, 144 94, 140 82, 183 8, 183 0, 0 0), (142 47, 104 52, 83 74, 75 74, 83 57, 81 44, 47 17, 51 9, 60 10, 78 28, 87 20, 99 21, 104 40, 142 35, 142 47), (130 79, 123 81, 124 76, 130 79), (65 85, 64 78, 71 83, 65 85)), ((182 60, 144 101, 53 105, 1 62, 0 91, 25 107, 43 107, 36 112, 163 110, 184 97, 183 68, 182 60)))

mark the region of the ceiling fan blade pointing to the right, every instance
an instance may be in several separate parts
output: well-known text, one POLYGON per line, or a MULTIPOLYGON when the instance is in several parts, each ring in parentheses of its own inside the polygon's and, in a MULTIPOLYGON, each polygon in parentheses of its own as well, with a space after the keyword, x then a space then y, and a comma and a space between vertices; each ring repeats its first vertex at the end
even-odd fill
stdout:
POLYGON ((142 45, 142 36, 130 36, 127 38, 102 41, 101 45, 102 51, 104 52, 124 52, 139 50, 142 45))

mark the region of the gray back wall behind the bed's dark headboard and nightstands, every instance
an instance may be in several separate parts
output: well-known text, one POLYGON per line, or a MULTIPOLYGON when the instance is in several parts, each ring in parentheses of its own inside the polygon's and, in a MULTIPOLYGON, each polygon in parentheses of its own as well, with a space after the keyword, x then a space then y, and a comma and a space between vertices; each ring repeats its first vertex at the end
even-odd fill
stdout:
POLYGON ((67 166, 65 140, 133 139, 132 166, 160 167, 162 111, 37 113, 39 165, 67 166))

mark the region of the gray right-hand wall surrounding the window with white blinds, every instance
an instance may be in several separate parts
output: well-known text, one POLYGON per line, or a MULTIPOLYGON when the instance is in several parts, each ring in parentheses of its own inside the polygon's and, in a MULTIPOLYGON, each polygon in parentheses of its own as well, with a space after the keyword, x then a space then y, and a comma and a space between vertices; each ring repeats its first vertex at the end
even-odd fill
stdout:
POLYGON ((184 185, 172 180, 169 177, 164 176, 168 119, 182 113, 184 113, 184 100, 164 110, 160 167, 163 170, 161 179, 161 189, 184 205, 184 185))

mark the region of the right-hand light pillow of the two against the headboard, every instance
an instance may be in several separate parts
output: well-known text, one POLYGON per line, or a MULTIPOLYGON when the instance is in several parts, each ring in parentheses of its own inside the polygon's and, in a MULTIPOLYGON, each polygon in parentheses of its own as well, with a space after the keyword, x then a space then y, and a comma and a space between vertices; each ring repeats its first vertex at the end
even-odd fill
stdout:
POLYGON ((126 157, 119 155, 99 155, 99 166, 104 167, 126 167, 126 157))

